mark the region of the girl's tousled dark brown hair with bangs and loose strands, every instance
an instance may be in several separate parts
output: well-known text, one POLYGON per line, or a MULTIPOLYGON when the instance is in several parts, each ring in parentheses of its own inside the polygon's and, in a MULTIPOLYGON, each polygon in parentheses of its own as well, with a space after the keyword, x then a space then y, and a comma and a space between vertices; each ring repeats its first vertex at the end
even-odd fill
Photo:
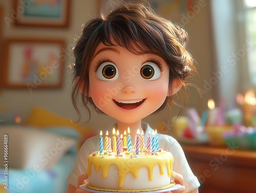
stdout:
MULTIPOLYGON (((80 115, 80 96, 82 105, 89 113, 88 121, 91 117, 88 103, 100 112, 91 97, 88 97, 89 66, 100 42, 107 46, 117 44, 134 54, 155 54, 162 57, 169 67, 169 91, 172 92, 173 80, 186 86, 187 78, 196 72, 194 59, 186 49, 187 41, 188 36, 183 28, 156 14, 149 5, 140 3, 123 3, 101 17, 90 20, 84 25, 74 47, 72 101, 75 110, 80 115), (83 85, 82 92, 79 92, 80 85, 83 85)), ((183 88, 182 98, 187 98, 187 89, 183 88)), ((182 105, 170 96, 166 97, 157 111, 170 103, 176 104, 181 110, 182 105)))

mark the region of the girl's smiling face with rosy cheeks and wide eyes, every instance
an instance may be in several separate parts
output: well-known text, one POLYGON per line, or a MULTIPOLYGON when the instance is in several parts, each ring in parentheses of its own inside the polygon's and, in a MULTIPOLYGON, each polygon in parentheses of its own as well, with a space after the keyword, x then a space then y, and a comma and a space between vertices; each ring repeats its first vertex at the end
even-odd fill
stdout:
POLYGON ((89 68, 89 96, 105 114, 134 123, 163 104, 168 78, 169 69, 161 57, 101 43, 89 68))

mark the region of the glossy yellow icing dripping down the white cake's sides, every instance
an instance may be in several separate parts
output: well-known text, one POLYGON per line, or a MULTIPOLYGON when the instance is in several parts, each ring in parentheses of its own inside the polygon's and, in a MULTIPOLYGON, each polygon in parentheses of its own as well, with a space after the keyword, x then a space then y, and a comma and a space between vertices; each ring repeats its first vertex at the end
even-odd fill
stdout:
POLYGON ((168 177, 172 176, 173 161, 174 159, 172 154, 165 151, 162 151, 159 155, 143 155, 136 158, 131 158, 130 155, 125 155, 125 153, 122 153, 122 157, 115 156, 115 152, 113 152, 111 155, 104 156, 99 155, 99 153, 96 154, 96 156, 91 154, 88 156, 87 175, 91 175, 91 167, 94 165, 94 169, 97 172, 101 167, 102 178, 106 178, 108 176, 110 166, 114 164, 118 169, 118 185, 121 188, 123 186, 126 174, 131 173, 134 178, 138 178, 139 169, 141 167, 146 167, 148 169, 148 178, 150 181, 153 180, 153 169, 157 164, 160 168, 160 175, 164 174, 164 166, 166 165, 168 177))

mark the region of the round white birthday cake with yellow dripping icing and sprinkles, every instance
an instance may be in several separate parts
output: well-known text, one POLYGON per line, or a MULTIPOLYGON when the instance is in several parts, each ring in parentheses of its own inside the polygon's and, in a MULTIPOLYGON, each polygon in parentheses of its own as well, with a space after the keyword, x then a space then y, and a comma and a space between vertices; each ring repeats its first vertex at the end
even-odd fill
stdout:
POLYGON ((173 161, 169 152, 146 147, 136 151, 136 145, 130 151, 124 147, 117 152, 94 152, 88 156, 87 187, 117 192, 167 189, 175 185, 171 181, 173 161))

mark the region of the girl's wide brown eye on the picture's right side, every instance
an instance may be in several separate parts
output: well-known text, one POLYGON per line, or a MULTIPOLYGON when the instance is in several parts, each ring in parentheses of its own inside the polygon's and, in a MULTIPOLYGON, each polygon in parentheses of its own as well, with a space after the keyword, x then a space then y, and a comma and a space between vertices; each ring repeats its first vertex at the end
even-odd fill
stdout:
POLYGON ((146 62, 140 69, 140 75, 145 80, 156 80, 161 76, 161 71, 154 63, 146 62))

